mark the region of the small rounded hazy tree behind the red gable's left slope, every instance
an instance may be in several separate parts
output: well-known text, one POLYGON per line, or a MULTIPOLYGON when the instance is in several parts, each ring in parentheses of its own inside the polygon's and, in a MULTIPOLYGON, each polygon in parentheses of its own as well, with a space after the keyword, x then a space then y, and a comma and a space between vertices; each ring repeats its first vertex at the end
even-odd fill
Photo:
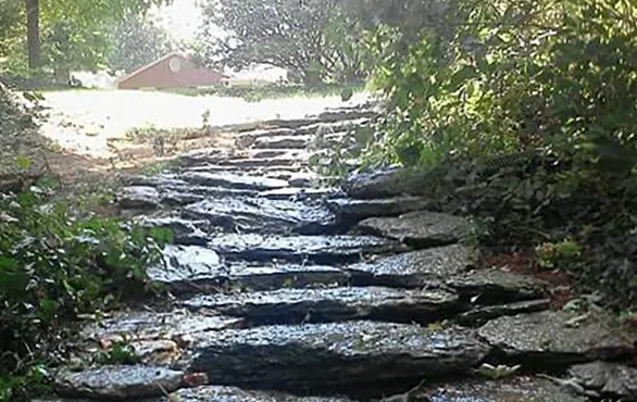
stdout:
POLYGON ((109 66, 113 71, 135 70, 175 50, 168 33, 148 15, 129 14, 113 33, 109 66))

